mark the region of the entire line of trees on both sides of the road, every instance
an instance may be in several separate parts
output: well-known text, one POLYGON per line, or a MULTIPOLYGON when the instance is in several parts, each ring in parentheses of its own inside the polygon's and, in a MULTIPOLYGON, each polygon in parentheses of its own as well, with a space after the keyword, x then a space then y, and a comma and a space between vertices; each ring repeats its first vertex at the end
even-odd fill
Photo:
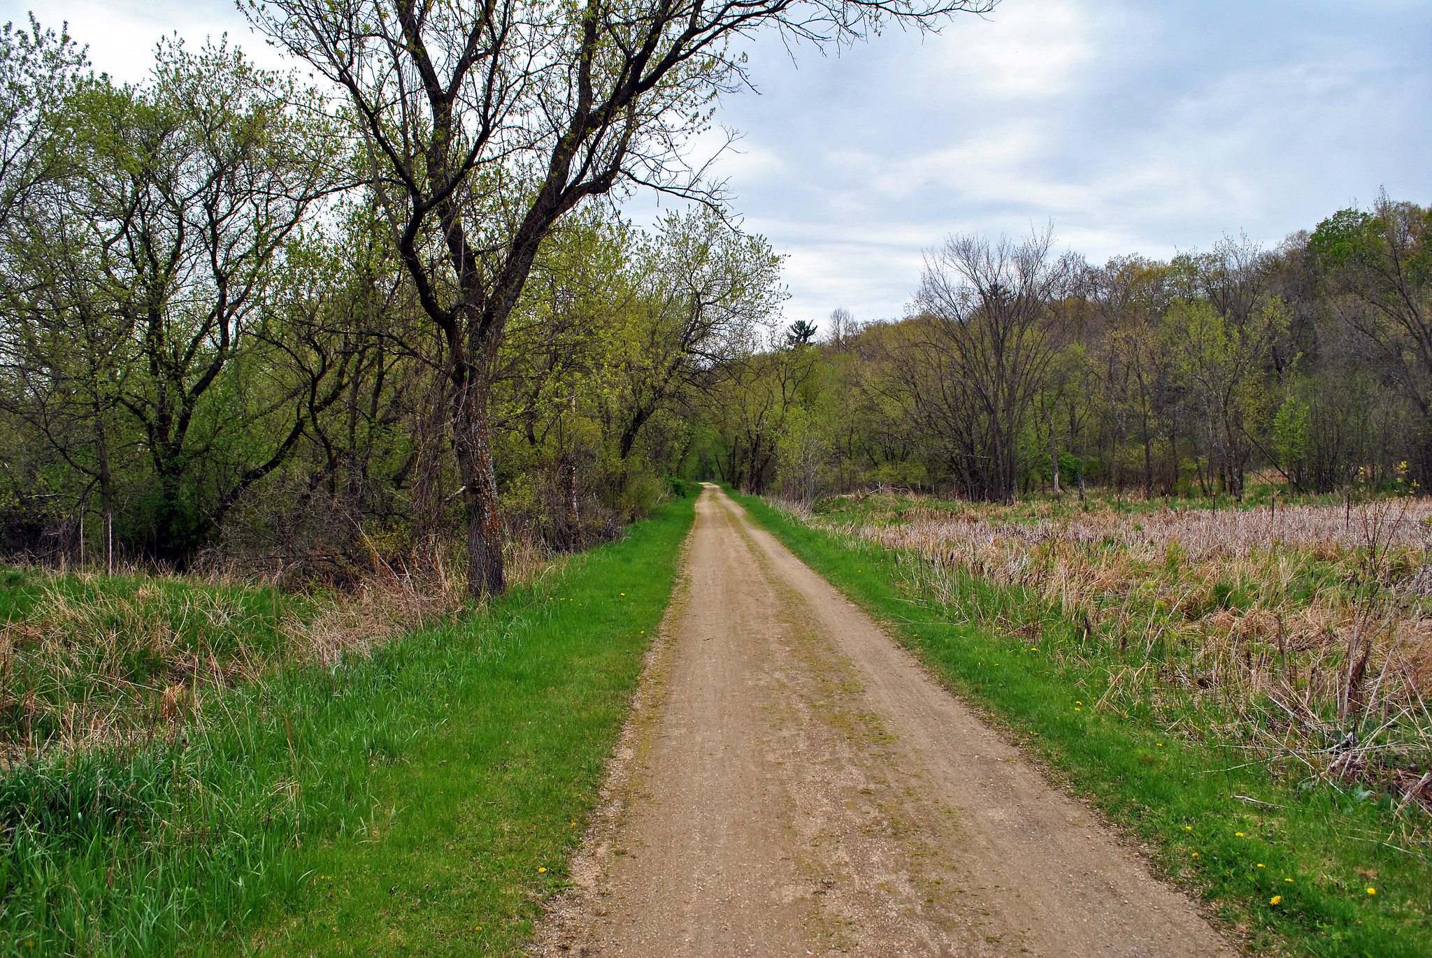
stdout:
MULTIPOLYGON (((335 583, 455 556, 484 593, 514 544, 599 541, 696 477, 805 500, 1432 481, 1415 203, 1167 262, 951 236, 906 316, 818 329, 672 160, 737 84, 715 50, 746 20, 674 30, 707 14, 663 6, 558 43, 503 4, 377 3, 364 37, 402 42, 359 49, 342 6, 252 14, 337 95, 223 44, 163 43, 119 84, 33 21, 0 37, 6 554, 335 583), (518 40, 546 66, 504 73, 518 40), (623 183, 699 202, 639 229, 623 183)), ((812 6, 818 40, 866 29, 812 6)))

